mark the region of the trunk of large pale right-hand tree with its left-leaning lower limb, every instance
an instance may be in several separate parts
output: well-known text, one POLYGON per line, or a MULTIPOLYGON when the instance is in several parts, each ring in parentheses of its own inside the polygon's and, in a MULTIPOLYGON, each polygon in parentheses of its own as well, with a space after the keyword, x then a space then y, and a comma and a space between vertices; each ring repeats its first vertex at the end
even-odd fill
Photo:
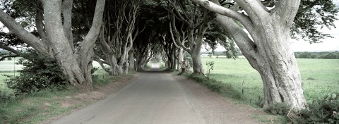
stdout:
POLYGON ((260 73, 264 89, 263 107, 283 102, 293 109, 307 108, 288 27, 266 18, 256 25, 256 33, 251 33, 255 42, 251 42, 232 18, 218 15, 217 20, 232 35, 251 66, 260 73))

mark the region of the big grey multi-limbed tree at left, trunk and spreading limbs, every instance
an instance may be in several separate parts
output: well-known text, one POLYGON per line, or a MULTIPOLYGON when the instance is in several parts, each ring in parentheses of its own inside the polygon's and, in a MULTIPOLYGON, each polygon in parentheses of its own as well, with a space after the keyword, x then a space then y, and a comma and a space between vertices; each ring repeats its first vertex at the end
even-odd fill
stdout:
POLYGON ((36 27, 40 37, 32 35, 4 11, 0 11, 0 21, 23 42, 32 46, 40 54, 57 58, 71 85, 93 89, 90 70, 93 61, 93 45, 100 32, 105 1, 97 1, 90 31, 78 48, 73 49, 71 41, 72 0, 39 1, 36 4, 36 27), (61 18, 61 13, 62 17, 61 18))

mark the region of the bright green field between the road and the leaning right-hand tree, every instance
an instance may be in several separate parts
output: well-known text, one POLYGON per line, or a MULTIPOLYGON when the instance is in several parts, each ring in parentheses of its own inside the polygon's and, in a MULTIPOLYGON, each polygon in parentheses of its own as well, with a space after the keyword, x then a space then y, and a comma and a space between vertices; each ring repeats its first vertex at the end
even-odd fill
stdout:
MULTIPOLYGON (((256 106, 263 99, 263 84, 259 73, 251 68, 244 58, 236 60, 230 58, 202 58, 203 68, 207 68, 206 62, 214 61, 214 69, 210 72, 210 78, 222 82, 226 87, 232 87, 238 92, 241 102, 256 106), (260 97, 260 98, 259 98, 260 97)), ((227 93, 222 94, 228 96, 227 93)))

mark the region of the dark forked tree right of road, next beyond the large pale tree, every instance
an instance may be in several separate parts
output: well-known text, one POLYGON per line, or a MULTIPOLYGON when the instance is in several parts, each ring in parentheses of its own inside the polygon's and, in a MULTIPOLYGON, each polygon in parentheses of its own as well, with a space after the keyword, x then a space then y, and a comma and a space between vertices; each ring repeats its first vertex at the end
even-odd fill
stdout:
POLYGON ((202 9, 191 1, 167 0, 166 2, 167 11, 187 27, 186 33, 189 47, 182 44, 182 41, 177 41, 177 44, 191 54, 193 74, 203 74, 200 58, 201 46, 203 45, 203 36, 209 27, 210 21, 213 20, 213 13, 202 9))

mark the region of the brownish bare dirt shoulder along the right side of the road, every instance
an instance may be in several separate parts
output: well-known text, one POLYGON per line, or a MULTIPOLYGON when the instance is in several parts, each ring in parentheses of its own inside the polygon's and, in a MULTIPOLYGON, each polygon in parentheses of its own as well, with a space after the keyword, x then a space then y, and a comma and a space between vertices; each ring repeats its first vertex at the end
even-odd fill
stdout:
POLYGON ((192 106, 201 113, 206 123, 261 123, 254 115, 267 114, 261 109, 235 104, 234 101, 184 76, 173 77, 186 89, 192 106))

